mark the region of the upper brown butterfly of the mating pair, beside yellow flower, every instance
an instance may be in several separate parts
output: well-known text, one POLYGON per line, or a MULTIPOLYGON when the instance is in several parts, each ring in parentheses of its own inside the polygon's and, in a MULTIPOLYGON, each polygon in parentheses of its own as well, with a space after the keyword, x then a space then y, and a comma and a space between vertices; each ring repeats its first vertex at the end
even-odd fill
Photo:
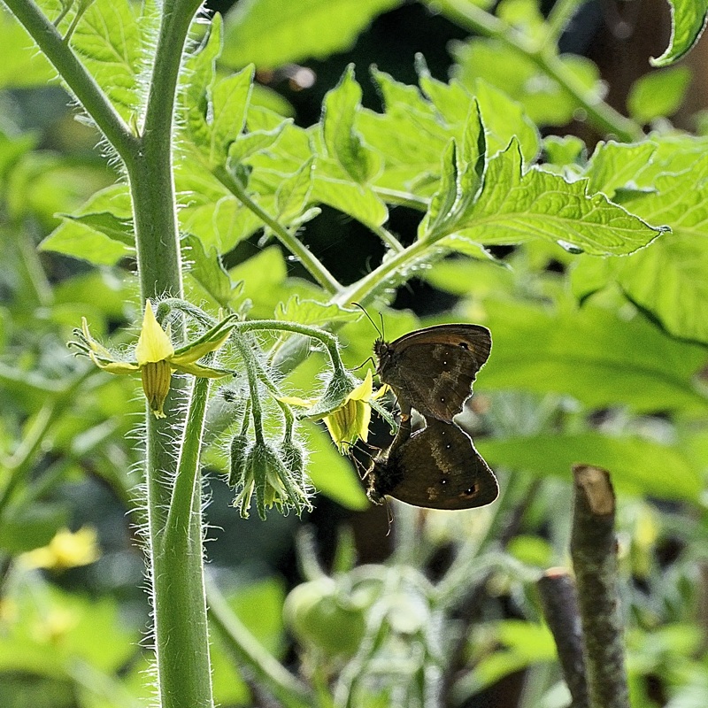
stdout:
POLYGON ((437 325, 387 344, 378 340, 377 372, 403 407, 426 418, 450 421, 472 395, 472 384, 491 350, 489 329, 480 325, 437 325))

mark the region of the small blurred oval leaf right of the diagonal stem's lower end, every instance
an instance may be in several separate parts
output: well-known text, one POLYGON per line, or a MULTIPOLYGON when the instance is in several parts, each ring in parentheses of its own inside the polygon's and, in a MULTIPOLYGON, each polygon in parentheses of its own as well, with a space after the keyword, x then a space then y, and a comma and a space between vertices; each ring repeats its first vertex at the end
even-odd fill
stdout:
POLYGON ((645 74, 637 79, 627 97, 629 115, 646 124, 656 118, 673 116, 686 97, 691 71, 688 66, 675 66, 645 74))

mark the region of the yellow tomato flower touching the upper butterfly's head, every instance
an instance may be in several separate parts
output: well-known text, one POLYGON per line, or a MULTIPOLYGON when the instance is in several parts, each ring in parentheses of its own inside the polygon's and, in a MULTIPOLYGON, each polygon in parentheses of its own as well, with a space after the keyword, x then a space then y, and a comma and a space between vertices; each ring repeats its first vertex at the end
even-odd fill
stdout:
MULTIPOLYGON (((319 416, 325 421, 329 435, 342 455, 349 452, 359 439, 365 443, 369 439, 371 402, 384 392, 385 387, 373 393, 372 373, 368 370, 364 381, 352 389, 341 404, 326 415, 319 416)), ((317 403, 316 399, 304 400, 295 396, 285 396, 280 400, 286 404, 308 407, 317 403)))

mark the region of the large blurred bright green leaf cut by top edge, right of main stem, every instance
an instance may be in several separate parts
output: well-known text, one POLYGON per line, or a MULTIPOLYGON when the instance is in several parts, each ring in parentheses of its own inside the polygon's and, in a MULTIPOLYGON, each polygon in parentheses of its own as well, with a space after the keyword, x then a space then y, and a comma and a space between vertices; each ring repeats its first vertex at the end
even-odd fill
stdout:
POLYGON ((245 0, 227 14, 221 61, 275 69, 349 49, 381 12, 401 0, 245 0))

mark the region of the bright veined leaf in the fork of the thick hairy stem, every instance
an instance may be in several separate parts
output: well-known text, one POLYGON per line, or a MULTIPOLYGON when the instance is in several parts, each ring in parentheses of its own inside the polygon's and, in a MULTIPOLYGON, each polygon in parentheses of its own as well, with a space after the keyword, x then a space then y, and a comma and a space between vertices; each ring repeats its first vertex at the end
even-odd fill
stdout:
POLYGON ((98 85, 128 121, 142 100, 142 32, 149 31, 147 22, 147 18, 138 22, 135 5, 128 0, 95 0, 71 40, 98 85))

